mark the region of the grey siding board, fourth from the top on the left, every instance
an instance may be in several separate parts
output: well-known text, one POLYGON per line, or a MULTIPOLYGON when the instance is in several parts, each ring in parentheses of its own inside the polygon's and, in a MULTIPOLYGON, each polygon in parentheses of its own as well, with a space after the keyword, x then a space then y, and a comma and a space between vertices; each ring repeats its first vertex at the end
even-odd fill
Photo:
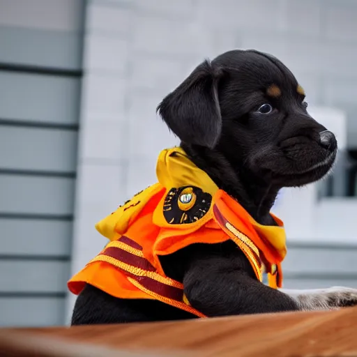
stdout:
MULTIPOLYGON (((74 153, 75 154, 75 153, 74 153)), ((0 174, 1 215, 73 214, 75 179, 0 174)))

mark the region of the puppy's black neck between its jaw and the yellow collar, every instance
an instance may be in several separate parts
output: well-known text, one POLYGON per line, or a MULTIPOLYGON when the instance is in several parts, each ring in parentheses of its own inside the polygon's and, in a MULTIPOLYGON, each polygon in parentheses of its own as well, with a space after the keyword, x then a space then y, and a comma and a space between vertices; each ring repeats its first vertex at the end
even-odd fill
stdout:
POLYGON ((243 167, 233 167, 219 151, 202 146, 181 143, 192 162, 202 169, 216 185, 245 208, 261 225, 276 225, 270 215, 278 188, 247 172, 243 167))

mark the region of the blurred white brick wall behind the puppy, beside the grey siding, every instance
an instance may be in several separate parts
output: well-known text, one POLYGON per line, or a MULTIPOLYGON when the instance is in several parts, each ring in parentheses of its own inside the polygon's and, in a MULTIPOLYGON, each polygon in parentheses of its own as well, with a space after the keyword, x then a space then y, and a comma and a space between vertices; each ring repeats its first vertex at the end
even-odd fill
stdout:
POLYGON ((155 107, 208 56, 278 56, 308 102, 347 109, 357 146, 356 18, 352 0, 89 0, 73 272, 102 248, 96 221, 155 181, 177 142, 155 107))

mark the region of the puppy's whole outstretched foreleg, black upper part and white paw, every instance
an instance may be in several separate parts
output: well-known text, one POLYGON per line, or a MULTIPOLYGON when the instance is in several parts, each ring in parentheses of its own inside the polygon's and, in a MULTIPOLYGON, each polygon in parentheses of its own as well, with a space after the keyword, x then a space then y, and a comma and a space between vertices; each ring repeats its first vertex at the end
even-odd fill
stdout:
POLYGON ((357 289, 271 289, 257 281, 234 243, 186 249, 183 286, 188 301, 208 317, 264 312, 332 310, 357 305, 357 289))

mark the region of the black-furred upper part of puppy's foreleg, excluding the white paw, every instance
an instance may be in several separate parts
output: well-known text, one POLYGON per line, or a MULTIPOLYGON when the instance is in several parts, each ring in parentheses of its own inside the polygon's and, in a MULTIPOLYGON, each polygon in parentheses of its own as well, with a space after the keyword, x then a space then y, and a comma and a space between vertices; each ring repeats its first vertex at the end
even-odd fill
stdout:
POLYGON ((186 252, 185 296, 206 316, 301 310, 294 298, 257 280, 233 241, 191 245, 186 252))

